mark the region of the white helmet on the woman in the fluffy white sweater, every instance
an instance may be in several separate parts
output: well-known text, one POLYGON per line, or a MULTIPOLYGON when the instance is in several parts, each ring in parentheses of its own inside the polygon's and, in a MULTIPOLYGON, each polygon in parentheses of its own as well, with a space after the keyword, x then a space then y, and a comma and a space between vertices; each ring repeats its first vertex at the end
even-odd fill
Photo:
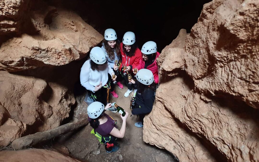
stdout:
POLYGON ((106 62, 106 56, 102 48, 93 47, 90 52, 90 58, 96 64, 104 64, 106 62))

